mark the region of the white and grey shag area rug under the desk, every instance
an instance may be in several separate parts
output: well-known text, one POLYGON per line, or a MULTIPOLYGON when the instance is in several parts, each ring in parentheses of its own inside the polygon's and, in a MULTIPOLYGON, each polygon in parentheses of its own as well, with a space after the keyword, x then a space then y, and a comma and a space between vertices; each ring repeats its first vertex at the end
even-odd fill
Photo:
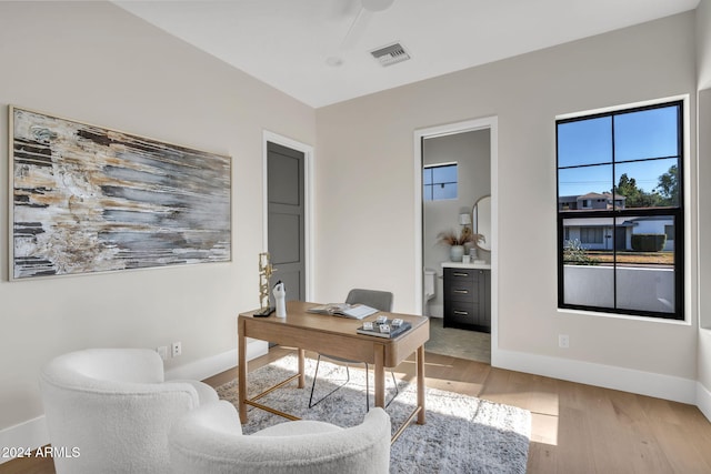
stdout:
MULTIPOLYGON (((297 372, 297 356, 287 355, 249 374, 249 396, 288 379, 297 372)), ((362 367, 363 365, 360 364, 362 367)), ((304 420, 320 420, 339 426, 360 424, 365 414, 364 371, 351 366, 350 382, 309 409, 316 361, 306 360, 306 387, 297 381, 260 399, 268 406, 304 420)), ((373 406, 373 380, 370 371, 370 403, 373 406)), ((321 360, 314 400, 346 380, 343 365, 321 360)), ((221 399, 238 404, 237 381, 218 387, 221 399)), ((393 382, 385 372, 385 400, 392 396, 393 382)), ((399 395, 385 409, 393 434, 417 405, 417 385, 399 381, 399 395)), ((488 402, 435 389, 427 389, 427 423, 412 423, 391 446, 391 473, 525 473, 531 434, 531 414, 527 410, 488 402)), ((246 434, 287 421, 250 407, 246 434)))

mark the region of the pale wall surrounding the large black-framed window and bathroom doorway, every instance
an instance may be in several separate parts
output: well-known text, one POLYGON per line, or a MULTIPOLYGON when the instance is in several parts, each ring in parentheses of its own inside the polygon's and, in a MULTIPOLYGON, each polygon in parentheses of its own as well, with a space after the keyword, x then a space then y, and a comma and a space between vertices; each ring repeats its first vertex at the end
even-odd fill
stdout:
MULTIPOLYGON (((419 205, 413 199, 413 131, 498 115, 494 364, 693 401, 693 232, 687 248, 685 324, 557 309, 554 120, 692 94, 687 123, 693 140, 694 91, 694 12, 688 12, 317 110, 317 192, 322 198, 317 204, 317 297, 332 300, 368 282, 394 291, 397 311, 413 311, 420 271, 412 259, 413 206, 419 205), (361 192, 363 185, 371 192, 361 192), (349 216, 348 228, 332 224, 341 215, 349 216), (350 232, 359 226, 371 231, 350 232), (338 278, 332 269, 339 269, 338 278), (570 349, 558 347, 559 334, 570 336, 570 349), (589 366, 600 376, 588 376, 589 366)), ((693 148, 689 160, 693 175, 693 148)), ((695 183, 688 184, 693 200, 695 183)), ((690 212, 693 231, 695 205, 690 212)))

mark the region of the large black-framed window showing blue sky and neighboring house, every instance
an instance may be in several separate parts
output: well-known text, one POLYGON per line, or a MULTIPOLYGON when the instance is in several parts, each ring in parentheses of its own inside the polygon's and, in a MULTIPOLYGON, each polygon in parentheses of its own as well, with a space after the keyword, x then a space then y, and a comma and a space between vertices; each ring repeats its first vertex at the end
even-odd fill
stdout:
POLYGON ((682 112, 557 121, 559 307, 683 320, 682 112))

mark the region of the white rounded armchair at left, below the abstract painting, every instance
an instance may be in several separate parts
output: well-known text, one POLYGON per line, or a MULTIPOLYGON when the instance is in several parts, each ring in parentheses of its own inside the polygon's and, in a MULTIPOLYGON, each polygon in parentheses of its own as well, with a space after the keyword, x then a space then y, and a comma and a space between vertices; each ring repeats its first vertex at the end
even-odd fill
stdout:
POLYGON ((163 361, 148 349, 90 349, 60 355, 40 374, 58 474, 169 473, 168 432, 184 413, 218 395, 197 381, 164 383, 163 361))

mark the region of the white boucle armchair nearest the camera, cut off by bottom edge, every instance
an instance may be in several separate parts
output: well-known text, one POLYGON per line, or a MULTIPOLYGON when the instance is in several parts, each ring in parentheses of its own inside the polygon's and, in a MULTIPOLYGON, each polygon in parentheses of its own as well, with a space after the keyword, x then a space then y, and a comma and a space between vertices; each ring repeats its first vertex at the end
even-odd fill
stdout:
POLYGON ((182 416, 169 443, 173 474, 385 474, 390 417, 372 409, 349 428, 302 420, 248 436, 234 406, 220 401, 182 416))

